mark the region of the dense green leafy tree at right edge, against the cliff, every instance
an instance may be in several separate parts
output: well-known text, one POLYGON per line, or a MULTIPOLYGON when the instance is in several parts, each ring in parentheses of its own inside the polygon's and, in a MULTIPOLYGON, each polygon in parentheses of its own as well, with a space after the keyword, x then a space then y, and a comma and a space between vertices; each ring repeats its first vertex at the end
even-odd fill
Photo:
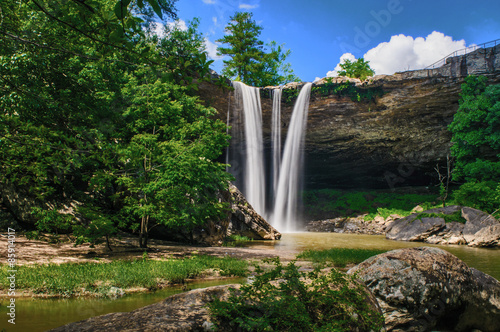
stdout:
POLYGON ((453 179, 468 183, 455 193, 455 199, 493 212, 500 207, 500 200, 495 201, 495 190, 500 188, 500 85, 487 85, 484 76, 469 76, 460 96, 448 128, 456 158, 453 179), (474 198, 474 192, 481 197, 474 198), (484 199, 486 192, 489 202, 484 199))

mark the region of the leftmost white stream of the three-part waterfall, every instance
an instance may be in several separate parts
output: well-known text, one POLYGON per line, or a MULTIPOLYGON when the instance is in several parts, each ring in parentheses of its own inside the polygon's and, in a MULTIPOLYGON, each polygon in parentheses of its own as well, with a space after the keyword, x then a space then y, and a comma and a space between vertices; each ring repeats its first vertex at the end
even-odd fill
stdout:
POLYGON ((241 96, 245 123, 243 194, 257 213, 265 215, 264 148, 262 144, 262 110, 259 89, 233 82, 235 94, 241 96))

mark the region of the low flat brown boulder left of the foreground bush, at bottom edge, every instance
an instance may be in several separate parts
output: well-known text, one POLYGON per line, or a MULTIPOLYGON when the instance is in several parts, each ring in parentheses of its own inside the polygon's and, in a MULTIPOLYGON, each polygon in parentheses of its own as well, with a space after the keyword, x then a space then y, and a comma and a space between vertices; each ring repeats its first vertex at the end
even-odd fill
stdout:
POLYGON ((227 299, 229 289, 239 287, 238 284, 232 284, 195 289, 131 312, 92 317, 51 331, 211 331, 206 304, 214 297, 227 299))

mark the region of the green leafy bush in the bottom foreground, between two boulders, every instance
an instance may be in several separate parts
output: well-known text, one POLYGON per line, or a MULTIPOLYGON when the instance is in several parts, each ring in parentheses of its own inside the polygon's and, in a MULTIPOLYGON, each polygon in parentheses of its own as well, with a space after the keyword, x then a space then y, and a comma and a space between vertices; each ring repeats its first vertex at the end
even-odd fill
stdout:
POLYGON ((265 261, 252 283, 233 292, 227 301, 209 306, 218 331, 378 331, 383 317, 368 307, 363 287, 332 269, 300 272, 292 261, 265 261), (310 280, 310 282, 306 281, 310 280))

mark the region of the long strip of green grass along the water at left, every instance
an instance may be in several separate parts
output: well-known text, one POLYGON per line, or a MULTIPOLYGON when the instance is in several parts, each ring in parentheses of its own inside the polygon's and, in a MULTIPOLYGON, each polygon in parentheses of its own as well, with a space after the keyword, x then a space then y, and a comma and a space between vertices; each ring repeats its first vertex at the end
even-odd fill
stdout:
MULTIPOLYGON (((132 260, 110 263, 65 263, 17 266, 16 290, 35 294, 76 296, 105 294, 111 287, 159 289, 216 269, 222 276, 244 276, 248 264, 230 257, 193 256, 171 260, 132 260)), ((8 266, 0 267, 0 289, 7 290, 8 266)))

